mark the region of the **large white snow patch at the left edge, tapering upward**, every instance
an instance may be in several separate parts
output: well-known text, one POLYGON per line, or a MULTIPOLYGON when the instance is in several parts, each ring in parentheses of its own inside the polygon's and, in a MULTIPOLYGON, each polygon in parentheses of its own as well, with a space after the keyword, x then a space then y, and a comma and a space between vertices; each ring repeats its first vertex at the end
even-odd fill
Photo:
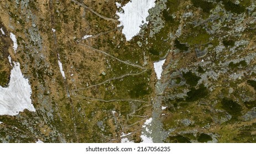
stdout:
POLYGON ((9 86, 0 86, 0 115, 15 116, 24 109, 35 112, 30 99, 32 89, 29 81, 24 78, 20 64, 18 62, 13 64, 9 86))

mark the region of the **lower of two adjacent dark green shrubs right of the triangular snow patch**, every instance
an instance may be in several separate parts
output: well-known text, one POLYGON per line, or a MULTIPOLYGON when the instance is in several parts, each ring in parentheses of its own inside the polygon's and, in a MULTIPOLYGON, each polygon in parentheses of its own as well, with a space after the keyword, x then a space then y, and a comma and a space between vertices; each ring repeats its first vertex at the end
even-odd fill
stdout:
POLYGON ((208 90, 202 84, 198 89, 194 87, 191 88, 189 92, 187 92, 186 102, 194 102, 208 95, 208 90))

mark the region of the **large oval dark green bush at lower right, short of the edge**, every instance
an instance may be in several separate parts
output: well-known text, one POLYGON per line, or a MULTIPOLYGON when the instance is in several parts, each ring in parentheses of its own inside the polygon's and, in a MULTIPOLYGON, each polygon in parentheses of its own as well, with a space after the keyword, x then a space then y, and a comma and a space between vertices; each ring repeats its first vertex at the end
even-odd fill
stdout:
POLYGON ((233 117, 241 116, 242 107, 238 103, 228 98, 223 98, 221 101, 221 107, 226 110, 233 117))

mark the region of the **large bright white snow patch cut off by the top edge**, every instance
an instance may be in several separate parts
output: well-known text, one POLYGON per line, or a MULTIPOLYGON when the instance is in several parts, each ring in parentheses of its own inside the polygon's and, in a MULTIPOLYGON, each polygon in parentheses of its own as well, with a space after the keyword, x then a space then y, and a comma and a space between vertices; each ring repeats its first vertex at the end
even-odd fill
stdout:
POLYGON ((155 0, 133 0, 122 7, 124 13, 116 12, 120 21, 117 26, 123 26, 122 33, 127 41, 139 34, 142 25, 148 24, 146 20, 149 15, 148 10, 153 7, 155 7, 155 0))

